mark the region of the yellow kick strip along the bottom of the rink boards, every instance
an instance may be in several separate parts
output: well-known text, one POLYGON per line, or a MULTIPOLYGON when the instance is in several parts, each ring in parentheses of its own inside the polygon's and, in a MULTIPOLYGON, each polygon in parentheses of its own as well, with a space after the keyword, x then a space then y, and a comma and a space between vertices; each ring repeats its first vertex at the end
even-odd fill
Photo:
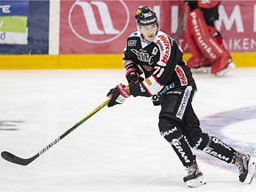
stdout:
MULTIPOLYGON (((185 53, 184 60, 191 54, 185 53)), ((232 53, 236 68, 255 68, 256 54, 232 53)), ((0 69, 123 68, 122 54, 0 55, 0 69)))

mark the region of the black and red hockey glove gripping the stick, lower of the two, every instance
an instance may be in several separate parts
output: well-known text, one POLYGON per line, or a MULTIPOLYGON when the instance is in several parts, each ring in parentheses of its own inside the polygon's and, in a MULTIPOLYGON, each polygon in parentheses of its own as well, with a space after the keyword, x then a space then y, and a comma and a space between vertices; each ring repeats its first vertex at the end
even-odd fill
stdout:
POLYGON ((124 90, 124 84, 117 84, 115 88, 112 88, 107 97, 111 97, 111 100, 108 102, 108 108, 113 107, 117 104, 123 104, 124 100, 127 99, 130 94, 124 90))

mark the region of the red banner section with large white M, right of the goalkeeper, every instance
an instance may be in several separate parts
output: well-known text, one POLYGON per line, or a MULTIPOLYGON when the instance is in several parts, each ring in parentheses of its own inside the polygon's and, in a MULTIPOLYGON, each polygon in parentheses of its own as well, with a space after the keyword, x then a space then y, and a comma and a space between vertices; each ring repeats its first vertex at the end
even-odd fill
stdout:
POLYGON ((216 28, 230 52, 256 52, 256 2, 221 1, 216 28))

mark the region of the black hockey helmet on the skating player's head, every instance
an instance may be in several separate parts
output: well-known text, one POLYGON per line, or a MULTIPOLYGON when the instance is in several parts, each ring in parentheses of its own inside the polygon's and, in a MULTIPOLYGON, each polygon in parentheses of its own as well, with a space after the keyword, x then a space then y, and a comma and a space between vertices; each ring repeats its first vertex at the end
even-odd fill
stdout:
POLYGON ((141 7, 136 10, 135 20, 138 26, 147 26, 157 23, 156 12, 149 6, 141 7))

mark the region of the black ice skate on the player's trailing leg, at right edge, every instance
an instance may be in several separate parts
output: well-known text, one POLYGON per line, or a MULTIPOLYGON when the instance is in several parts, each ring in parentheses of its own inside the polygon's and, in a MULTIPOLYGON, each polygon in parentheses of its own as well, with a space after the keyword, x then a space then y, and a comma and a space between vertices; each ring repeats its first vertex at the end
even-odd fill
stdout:
POLYGON ((256 172, 256 158, 236 152, 234 161, 239 170, 240 182, 250 184, 256 172))

